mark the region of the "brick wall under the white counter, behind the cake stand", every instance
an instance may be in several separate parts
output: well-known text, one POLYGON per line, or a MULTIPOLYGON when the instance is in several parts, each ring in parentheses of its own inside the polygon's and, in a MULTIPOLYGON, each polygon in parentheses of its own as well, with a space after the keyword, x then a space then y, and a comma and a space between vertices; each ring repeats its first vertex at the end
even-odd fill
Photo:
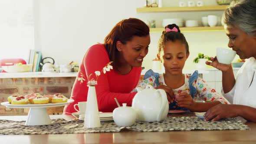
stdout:
MULTIPOLYGON (((30 93, 56 94, 62 93, 70 97, 75 77, 51 78, 12 78, 0 79, 0 102, 7 101, 13 94, 30 93)), ((29 109, 6 108, 0 105, 0 115, 27 115, 29 109)), ((62 114, 63 107, 48 108, 50 114, 62 114)))

